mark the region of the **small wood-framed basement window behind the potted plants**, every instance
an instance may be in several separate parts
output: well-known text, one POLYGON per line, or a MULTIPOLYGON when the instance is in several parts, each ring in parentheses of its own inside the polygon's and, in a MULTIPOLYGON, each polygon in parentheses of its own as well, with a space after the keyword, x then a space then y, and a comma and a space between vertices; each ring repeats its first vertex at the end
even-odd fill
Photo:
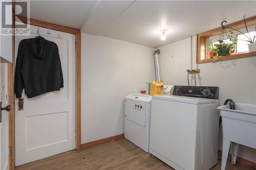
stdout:
MULTIPOLYGON (((253 16, 251 18, 246 19, 246 25, 248 27, 249 34, 245 34, 246 36, 253 37, 255 32, 255 25, 256 25, 256 16, 253 16)), ((244 25, 244 21, 238 21, 235 23, 231 23, 229 25, 226 25, 226 27, 233 28, 236 30, 239 30, 242 33, 246 33, 247 30, 244 25)), ((205 63, 205 62, 213 62, 212 53, 209 53, 209 50, 205 50, 206 47, 208 47, 211 43, 216 44, 218 43, 219 35, 221 34, 222 27, 207 31, 205 33, 198 34, 197 37, 197 63, 205 63)), ((256 52, 248 52, 248 43, 247 37, 243 34, 241 34, 239 31, 231 30, 233 32, 233 36, 237 38, 237 45, 234 53, 230 53, 228 56, 223 56, 219 58, 219 61, 223 60, 231 60, 236 58, 243 58, 243 57, 252 57, 256 56, 256 52)), ((226 28, 227 35, 230 34, 230 29, 226 28)), ((227 38, 226 35, 224 38, 227 38)), ((226 42, 229 41, 229 39, 224 40, 226 42)))

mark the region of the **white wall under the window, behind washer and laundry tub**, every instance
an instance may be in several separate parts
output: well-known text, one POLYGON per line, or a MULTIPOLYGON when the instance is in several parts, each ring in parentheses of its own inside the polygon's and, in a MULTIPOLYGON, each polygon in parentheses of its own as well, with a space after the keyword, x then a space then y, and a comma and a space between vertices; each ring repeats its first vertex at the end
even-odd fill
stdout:
MULTIPOLYGON (((196 41, 193 38, 193 68, 196 68, 196 41)), ((190 38, 158 48, 164 84, 187 85, 186 69, 190 69, 190 38)), ((247 57, 216 64, 198 64, 201 69, 197 85, 220 87, 220 104, 228 98, 234 102, 256 104, 256 57, 247 57)), ((194 78, 194 77, 193 77, 194 78)), ((191 82, 191 77, 189 77, 191 82)), ((193 85, 194 79, 193 79, 193 85)), ((222 132, 222 130, 220 130, 222 132)), ((222 133, 220 134, 220 149, 222 133)), ((256 150, 240 146, 238 155, 256 163, 256 150)))

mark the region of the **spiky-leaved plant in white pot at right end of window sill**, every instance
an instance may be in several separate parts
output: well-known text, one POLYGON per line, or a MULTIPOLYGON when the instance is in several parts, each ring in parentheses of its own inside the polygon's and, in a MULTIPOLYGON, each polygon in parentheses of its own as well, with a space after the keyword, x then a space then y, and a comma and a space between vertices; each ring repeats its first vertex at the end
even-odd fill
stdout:
MULTIPOLYGON (((223 22, 227 22, 227 21, 222 21, 222 23, 223 22)), ((243 32, 241 32, 241 31, 239 31, 237 29, 233 29, 233 28, 230 28, 230 27, 226 27, 226 28, 238 31, 239 33, 243 34, 246 37, 246 40, 242 39, 242 41, 249 42, 249 44, 248 44, 249 53, 250 52, 256 52, 256 25, 255 25, 255 30, 254 30, 253 37, 251 37, 249 35, 249 31, 248 31, 248 27, 247 27, 247 24, 246 24, 245 16, 244 16, 244 25, 245 25, 245 28, 246 28, 246 33, 243 33, 243 32)), ((225 26, 222 25, 222 27, 225 27, 225 26)))

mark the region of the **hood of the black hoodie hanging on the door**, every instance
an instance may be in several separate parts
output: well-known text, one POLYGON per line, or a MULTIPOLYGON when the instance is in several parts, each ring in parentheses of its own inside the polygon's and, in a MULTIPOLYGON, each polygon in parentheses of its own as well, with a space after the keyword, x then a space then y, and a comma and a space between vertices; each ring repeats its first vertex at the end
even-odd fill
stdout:
POLYGON ((46 57, 46 40, 41 36, 37 36, 32 38, 31 41, 31 52, 32 54, 40 59, 43 60, 46 57))

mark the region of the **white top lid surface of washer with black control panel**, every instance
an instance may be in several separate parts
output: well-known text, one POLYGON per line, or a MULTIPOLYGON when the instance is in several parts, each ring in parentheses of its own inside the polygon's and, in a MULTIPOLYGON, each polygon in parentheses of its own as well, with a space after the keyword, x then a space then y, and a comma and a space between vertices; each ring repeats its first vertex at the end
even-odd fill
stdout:
POLYGON ((153 95, 153 99, 161 99, 189 104, 207 104, 207 103, 218 103, 219 100, 216 99, 204 99, 204 98, 191 98, 186 96, 177 96, 177 95, 153 95))

